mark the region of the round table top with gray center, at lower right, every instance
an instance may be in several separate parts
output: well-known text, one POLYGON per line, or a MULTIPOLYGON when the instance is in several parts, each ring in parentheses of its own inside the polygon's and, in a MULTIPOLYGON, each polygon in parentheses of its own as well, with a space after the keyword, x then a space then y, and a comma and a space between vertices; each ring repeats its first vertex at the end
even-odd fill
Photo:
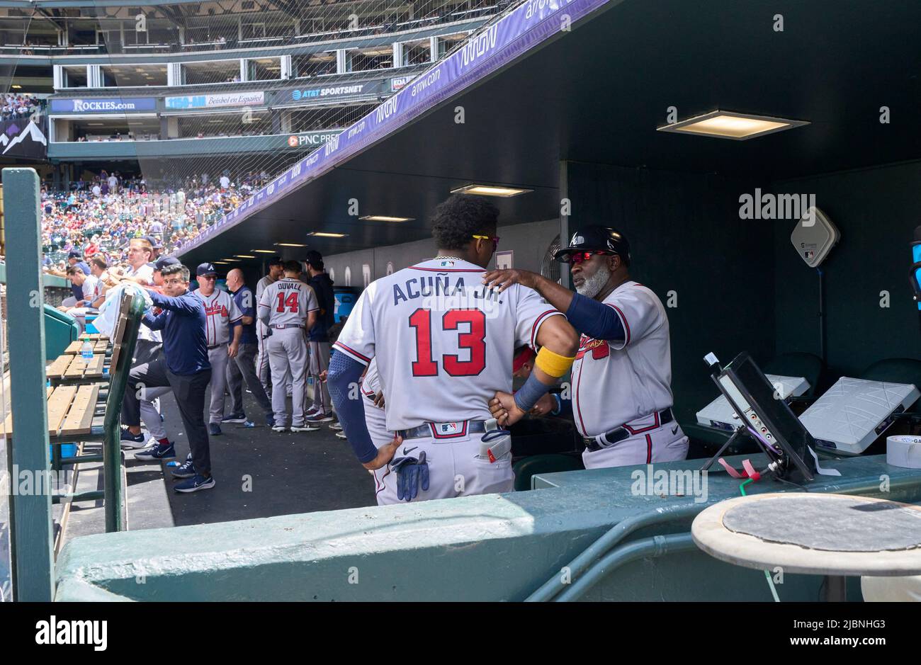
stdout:
POLYGON ((691 527, 705 553, 736 566, 835 576, 921 575, 921 507, 808 492, 738 496, 691 527))

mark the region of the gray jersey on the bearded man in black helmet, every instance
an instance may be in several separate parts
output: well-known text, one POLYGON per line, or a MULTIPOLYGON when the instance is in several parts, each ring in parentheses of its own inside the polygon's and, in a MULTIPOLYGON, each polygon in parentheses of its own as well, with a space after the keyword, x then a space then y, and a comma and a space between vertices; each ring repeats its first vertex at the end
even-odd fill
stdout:
POLYGON ((603 302, 620 317, 625 339, 595 340, 583 334, 579 340, 572 395, 576 426, 584 437, 672 404, 669 319, 659 297, 628 281, 603 302))

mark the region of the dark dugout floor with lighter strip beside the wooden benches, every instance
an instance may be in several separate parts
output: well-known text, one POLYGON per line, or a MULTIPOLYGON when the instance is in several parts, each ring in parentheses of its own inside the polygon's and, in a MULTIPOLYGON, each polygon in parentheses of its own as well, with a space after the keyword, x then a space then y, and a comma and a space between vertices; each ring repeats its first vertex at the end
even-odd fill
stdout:
MULTIPOLYGON (((160 403, 167 436, 176 442, 176 459, 184 461, 189 445, 176 401, 167 395, 160 403)), ((260 426, 225 424, 222 436, 209 437, 213 489, 173 492, 178 481, 169 472, 175 467, 134 460, 134 449, 123 449, 130 531, 376 505, 373 479, 348 443, 335 437, 330 423, 316 432, 279 434, 262 425, 264 418, 248 393, 244 408, 260 426)), ((78 491, 101 489, 100 466, 81 465, 78 491)), ((101 501, 71 506, 65 542, 103 531, 101 501)))

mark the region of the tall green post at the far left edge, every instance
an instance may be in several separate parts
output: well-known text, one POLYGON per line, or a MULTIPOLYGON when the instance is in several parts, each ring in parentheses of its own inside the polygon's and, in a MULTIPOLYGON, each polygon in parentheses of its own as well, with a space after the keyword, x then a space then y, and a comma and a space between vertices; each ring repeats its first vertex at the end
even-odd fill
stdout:
POLYGON ((54 595, 52 496, 45 400, 44 294, 41 284, 39 176, 3 169, 6 312, 13 432, 10 487, 30 475, 32 491, 10 496, 13 589, 17 601, 54 595))

